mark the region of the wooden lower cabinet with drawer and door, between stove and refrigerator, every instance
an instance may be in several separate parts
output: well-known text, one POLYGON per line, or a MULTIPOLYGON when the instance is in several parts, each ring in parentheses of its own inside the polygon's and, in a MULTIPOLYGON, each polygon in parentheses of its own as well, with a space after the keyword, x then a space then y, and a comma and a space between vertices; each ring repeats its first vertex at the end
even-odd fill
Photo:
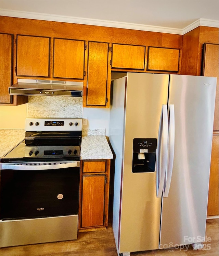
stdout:
POLYGON ((81 161, 79 231, 108 226, 109 185, 110 159, 81 161))

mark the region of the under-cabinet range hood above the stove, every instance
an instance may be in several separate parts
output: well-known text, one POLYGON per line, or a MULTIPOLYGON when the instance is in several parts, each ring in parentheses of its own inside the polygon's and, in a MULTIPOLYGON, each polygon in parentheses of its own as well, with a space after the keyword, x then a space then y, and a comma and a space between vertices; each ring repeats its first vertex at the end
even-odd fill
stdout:
POLYGON ((83 82, 17 79, 17 84, 9 87, 9 94, 82 97, 83 82))

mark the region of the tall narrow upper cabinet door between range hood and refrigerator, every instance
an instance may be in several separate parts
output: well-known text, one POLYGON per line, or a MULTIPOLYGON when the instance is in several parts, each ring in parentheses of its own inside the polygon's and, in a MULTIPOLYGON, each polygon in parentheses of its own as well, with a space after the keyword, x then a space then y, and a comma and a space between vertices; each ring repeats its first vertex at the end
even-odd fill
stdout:
POLYGON ((106 106, 111 82, 107 77, 108 47, 108 43, 88 42, 87 106, 106 106))

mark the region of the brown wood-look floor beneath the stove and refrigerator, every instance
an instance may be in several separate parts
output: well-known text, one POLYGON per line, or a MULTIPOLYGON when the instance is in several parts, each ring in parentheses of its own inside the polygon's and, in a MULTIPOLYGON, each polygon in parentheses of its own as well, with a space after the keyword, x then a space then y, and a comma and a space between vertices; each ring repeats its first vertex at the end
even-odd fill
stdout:
MULTIPOLYGON (((22 235, 22 234, 21 234, 22 235)), ((188 251, 173 249, 169 251, 155 250, 131 253, 131 256, 218 256, 219 255, 219 219, 207 220, 206 235, 211 238, 209 250, 188 251)), ((117 256, 112 226, 107 230, 82 232, 78 239, 67 242, 34 244, 25 246, 5 247, 0 249, 1 256, 117 256)))

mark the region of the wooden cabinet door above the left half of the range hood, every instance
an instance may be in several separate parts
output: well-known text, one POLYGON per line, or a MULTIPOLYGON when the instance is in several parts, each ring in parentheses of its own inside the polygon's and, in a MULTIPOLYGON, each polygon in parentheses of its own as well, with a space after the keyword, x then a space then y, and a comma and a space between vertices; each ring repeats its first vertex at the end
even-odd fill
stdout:
POLYGON ((50 37, 17 35, 16 76, 49 77, 50 37))

